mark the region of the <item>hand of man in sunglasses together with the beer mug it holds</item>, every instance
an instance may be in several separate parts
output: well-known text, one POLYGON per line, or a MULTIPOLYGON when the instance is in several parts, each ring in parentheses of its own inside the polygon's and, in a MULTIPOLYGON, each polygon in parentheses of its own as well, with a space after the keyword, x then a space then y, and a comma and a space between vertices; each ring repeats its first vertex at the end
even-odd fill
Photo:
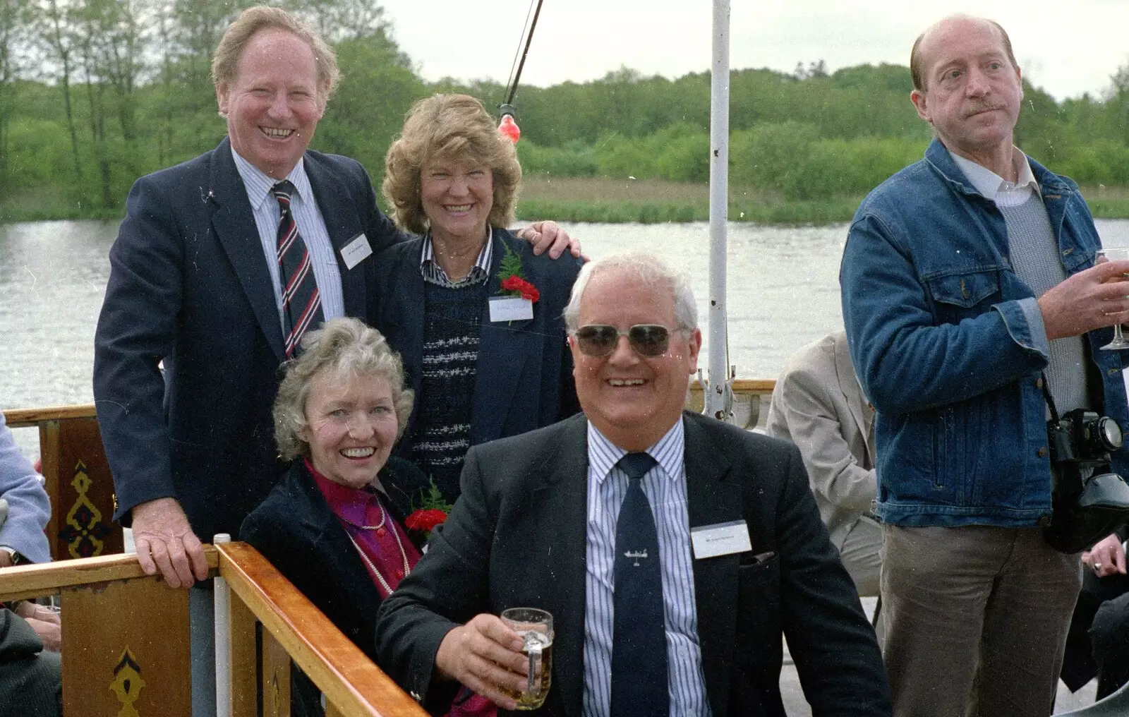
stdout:
POLYGON ((549 694, 552 644, 553 618, 544 610, 482 613, 447 632, 435 666, 502 709, 537 709, 549 694))

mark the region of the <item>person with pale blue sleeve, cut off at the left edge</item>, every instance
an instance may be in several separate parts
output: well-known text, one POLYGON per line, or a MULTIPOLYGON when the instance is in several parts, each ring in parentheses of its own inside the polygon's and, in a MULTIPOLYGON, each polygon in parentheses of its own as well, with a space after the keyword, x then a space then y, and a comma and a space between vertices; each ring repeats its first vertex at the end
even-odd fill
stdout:
MULTIPOLYGON (((51 501, 0 412, 0 570, 49 562, 51 501)), ((0 717, 62 714, 59 615, 19 601, 0 605, 0 717)))

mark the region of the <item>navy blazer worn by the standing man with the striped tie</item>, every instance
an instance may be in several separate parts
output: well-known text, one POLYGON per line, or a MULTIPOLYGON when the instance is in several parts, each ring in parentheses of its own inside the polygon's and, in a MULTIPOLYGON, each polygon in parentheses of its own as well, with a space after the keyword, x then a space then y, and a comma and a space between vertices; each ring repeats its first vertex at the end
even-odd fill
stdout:
MULTIPOLYGON (((306 173, 338 253, 345 314, 368 318, 371 257, 401 238, 364 167, 307 151, 306 173)), ((95 334, 94 399, 117 510, 173 496, 204 541, 235 534, 266 497, 277 462, 271 405, 283 360, 266 257, 231 147, 138 180, 110 251, 95 334), (164 376, 158 362, 164 360, 164 376)))

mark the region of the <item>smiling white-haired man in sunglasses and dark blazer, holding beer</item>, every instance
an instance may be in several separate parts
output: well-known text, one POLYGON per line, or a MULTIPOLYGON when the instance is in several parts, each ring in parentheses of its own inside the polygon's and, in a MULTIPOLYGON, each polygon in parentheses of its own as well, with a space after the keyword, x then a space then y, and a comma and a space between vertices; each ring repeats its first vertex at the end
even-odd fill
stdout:
POLYGON ((590 262, 564 309, 583 416, 471 448, 463 495, 382 605, 382 666, 428 707, 513 709, 498 613, 553 615, 539 714, 784 717, 781 632, 817 715, 889 715, 874 631, 796 447, 683 411, 701 332, 648 254, 590 262), (457 682, 456 682, 457 681, 457 682))

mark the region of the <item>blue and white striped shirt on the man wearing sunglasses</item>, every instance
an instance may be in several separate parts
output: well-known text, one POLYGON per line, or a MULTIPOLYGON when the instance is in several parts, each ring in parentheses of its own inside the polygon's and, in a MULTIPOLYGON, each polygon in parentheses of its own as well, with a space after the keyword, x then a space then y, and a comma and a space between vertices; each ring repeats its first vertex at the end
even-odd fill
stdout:
MULTIPOLYGON (((666 622, 667 682, 671 715, 709 717, 698 611, 682 420, 647 449, 658 464, 642 478, 658 532, 666 622)), ((588 549, 584 615, 584 717, 606 717, 612 705, 612 628, 614 624, 615 523, 628 490, 628 476, 615 463, 627 454, 588 422, 588 549)), ((628 617, 630 619, 630 615, 628 617)))

